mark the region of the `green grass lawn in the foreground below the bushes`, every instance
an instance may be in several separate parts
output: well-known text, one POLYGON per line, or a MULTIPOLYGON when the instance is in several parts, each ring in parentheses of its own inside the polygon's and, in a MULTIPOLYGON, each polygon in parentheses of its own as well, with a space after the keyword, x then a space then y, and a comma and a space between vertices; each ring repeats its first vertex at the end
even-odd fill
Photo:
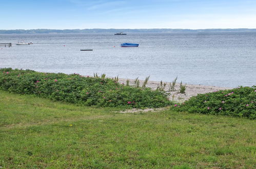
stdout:
POLYGON ((255 168, 256 121, 135 114, 0 91, 3 168, 255 168))

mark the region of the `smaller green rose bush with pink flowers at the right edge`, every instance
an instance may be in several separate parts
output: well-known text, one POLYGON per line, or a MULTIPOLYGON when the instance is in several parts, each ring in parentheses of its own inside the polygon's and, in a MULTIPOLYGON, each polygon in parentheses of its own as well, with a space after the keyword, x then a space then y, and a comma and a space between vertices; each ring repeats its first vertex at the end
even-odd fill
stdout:
POLYGON ((214 115, 256 118, 256 90, 253 87, 239 87, 191 97, 182 104, 175 104, 172 110, 214 115))

